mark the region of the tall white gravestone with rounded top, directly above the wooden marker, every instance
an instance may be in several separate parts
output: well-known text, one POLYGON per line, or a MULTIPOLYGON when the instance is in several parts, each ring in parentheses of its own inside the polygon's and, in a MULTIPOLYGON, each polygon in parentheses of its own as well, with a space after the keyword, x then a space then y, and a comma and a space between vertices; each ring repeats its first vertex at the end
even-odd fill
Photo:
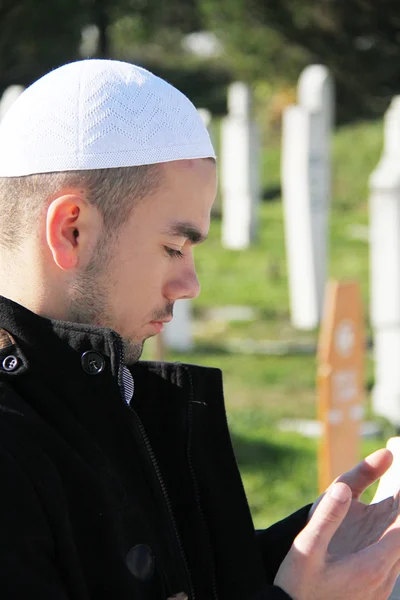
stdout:
POLYGON ((282 194, 291 320, 310 330, 322 316, 327 279, 334 86, 328 69, 307 67, 298 104, 283 115, 282 194))

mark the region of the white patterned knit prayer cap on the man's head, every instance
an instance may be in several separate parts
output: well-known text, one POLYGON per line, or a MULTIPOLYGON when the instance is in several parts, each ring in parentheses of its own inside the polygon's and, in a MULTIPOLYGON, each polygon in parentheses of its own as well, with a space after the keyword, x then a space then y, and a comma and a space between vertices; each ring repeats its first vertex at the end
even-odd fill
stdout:
POLYGON ((135 65, 83 60, 51 71, 0 124, 0 177, 215 157, 190 100, 135 65))

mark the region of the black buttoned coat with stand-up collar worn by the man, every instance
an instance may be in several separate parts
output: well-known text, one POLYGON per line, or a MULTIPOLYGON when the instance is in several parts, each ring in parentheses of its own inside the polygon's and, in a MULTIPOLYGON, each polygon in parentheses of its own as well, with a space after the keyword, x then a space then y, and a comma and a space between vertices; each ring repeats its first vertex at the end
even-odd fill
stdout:
POLYGON ((220 371, 139 362, 129 407, 122 358, 0 299, 1 599, 287 600, 308 507, 255 534, 220 371))

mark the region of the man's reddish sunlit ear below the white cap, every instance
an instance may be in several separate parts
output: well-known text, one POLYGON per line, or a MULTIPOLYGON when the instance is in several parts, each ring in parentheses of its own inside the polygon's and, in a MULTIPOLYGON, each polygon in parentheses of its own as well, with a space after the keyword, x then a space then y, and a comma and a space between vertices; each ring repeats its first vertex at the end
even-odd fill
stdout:
POLYGON ((81 196, 65 194, 55 198, 47 209, 46 241, 56 265, 74 269, 81 251, 81 228, 88 208, 81 196))

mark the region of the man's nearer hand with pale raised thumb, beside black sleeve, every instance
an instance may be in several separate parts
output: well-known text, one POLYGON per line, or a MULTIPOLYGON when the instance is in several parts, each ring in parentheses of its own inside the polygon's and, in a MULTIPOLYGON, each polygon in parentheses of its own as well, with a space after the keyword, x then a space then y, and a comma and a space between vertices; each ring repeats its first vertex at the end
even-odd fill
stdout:
MULTIPOLYGON (((379 461, 378 461, 379 462, 379 461)), ((361 550, 330 550, 352 503, 352 491, 333 484, 281 564, 275 584, 294 600, 387 600, 400 570, 400 518, 361 550)))

